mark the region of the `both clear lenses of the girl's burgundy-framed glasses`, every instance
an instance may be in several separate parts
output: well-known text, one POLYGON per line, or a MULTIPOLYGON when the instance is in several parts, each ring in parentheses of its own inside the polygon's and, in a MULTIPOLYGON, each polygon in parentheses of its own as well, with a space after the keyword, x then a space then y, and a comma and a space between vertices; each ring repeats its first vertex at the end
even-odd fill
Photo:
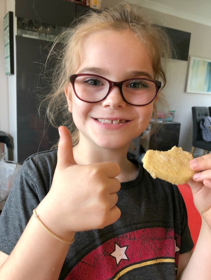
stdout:
MULTIPOLYGON (((109 91, 109 82, 101 77, 79 76, 74 82, 75 92, 78 97, 88 102, 98 102, 106 97, 109 91)), ((134 79, 125 81, 122 93, 128 103, 143 105, 153 100, 156 85, 152 81, 134 79)))

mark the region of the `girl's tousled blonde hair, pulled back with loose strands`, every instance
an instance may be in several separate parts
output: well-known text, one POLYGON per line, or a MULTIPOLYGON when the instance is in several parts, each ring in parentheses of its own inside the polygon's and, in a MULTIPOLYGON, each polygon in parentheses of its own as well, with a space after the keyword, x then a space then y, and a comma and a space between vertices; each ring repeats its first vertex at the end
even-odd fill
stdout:
MULTIPOLYGON (((70 82, 70 74, 74 74, 80 65, 80 45, 83 44, 83 40, 100 30, 119 32, 131 30, 150 54, 154 79, 163 82, 162 88, 166 84, 165 65, 167 58, 171 57, 168 36, 159 26, 142 15, 140 6, 120 3, 113 8, 88 12, 74 23, 74 27, 67 29, 56 39, 47 59, 48 63, 49 60, 54 61, 56 58, 56 66, 51 74, 52 91, 43 101, 47 118, 53 127, 64 125, 70 130, 73 145, 79 142, 79 132, 68 111, 64 88, 70 82), (61 40, 64 44, 60 43, 61 40)), ((158 100, 164 102, 160 93, 158 100)), ((154 116, 156 116, 155 102, 154 116)))

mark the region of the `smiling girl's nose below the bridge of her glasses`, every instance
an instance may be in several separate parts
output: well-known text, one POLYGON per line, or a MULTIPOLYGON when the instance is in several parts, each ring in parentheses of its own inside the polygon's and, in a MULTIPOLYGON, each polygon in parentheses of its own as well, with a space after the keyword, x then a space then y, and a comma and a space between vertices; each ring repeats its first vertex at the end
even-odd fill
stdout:
POLYGON ((125 108, 126 102, 123 100, 118 86, 113 86, 111 88, 107 97, 102 101, 102 105, 104 107, 110 106, 112 109, 116 109, 118 107, 125 108))

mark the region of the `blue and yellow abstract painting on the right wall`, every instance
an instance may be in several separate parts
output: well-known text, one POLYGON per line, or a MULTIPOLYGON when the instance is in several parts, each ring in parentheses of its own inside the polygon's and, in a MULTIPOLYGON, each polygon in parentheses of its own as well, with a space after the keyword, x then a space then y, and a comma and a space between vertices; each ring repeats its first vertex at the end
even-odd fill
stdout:
POLYGON ((211 94, 211 59, 190 57, 186 92, 211 94))

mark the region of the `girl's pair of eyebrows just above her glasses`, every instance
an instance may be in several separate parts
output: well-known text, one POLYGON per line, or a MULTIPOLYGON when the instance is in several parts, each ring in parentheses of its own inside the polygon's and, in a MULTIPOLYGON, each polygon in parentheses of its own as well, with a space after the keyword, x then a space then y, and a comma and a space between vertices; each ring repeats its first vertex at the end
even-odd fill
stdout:
MULTIPOLYGON (((78 72, 78 74, 82 74, 82 73, 86 73, 86 72, 90 72, 90 73, 97 74, 97 75, 100 75, 100 76, 109 76, 109 71, 107 69, 99 68, 99 67, 85 67, 85 68, 81 69, 78 72)), ((153 79, 153 77, 148 72, 144 72, 144 71, 125 71, 123 73, 123 75, 126 78, 146 76, 150 79, 153 79)))

